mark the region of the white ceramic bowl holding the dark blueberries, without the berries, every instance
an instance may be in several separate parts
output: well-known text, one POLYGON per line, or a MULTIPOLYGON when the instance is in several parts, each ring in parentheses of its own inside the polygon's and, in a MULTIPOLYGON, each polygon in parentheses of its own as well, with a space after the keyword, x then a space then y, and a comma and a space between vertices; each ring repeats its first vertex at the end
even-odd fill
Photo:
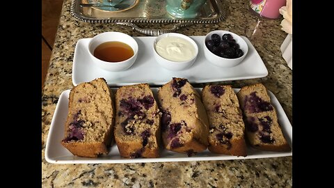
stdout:
POLYGON ((230 31, 216 30, 216 31, 211 31, 210 33, 207 33, 207 35, 205 36, 205 40, 203 41, 203 50, 204 50, 205 58, 207 58, 207 60, 210 63, 212 63, 212 64, 214 64, 218 67, 228 68, 228 67, 234 67, 234 66, 238 65, 239 63, 241 63, 241 61, 247 56, 248 45, 243 38, 241 38, 240 36, 238 36, 235 33, 232 33, 230 31), (239 57, 239 58, 223 58, 221 56, 217 56, 216 54, 212 53, 207 48, 207 45, 205 45, 205 41, 211 39, 211 36, 214 33, 218 34, 218 36, 220 36, 220 37, 222 37, 223 34, 225 34, 225 33, 230 33, 232 35, 233 39, 240 46, 240 49, 242 50, 242 52, 244 52, 244 55, 239 57))

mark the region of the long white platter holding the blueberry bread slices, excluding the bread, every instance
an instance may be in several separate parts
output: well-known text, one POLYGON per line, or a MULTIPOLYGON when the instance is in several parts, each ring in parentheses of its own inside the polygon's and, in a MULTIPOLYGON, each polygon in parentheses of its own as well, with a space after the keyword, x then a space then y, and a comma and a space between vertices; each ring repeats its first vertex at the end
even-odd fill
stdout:
MULTIPOLYGON (((112 88, 116 92, 117 88, 112 88)), ((201 88, 196 88, 198 92, 201 88)), ((154 95, 157 93, 157 88, 152 88, 154 95)), ((235 92, 239 89, 234 89, 235 92)), ((247 146, 247 156, 237 157, 230 155, 221 155, 205 150, 203 152, 198 152, 192 157, 188 157, 186 154, 171 152, 168 150, 161 150, 161 157, 159 158, 136 158, 136 159, 125 159, 120 157, 118 148, 116 144, 111 146, 111 150, 108 155, 103 155, 98 158, 86 158, 77 157, 72 155, 66 148, 61 145, 61 140, 64 137, 65 131, 65 121, 68 112, 68 96, 70 90, 63 91, 59 97, 56 110, 54 111, 54 116, 51 121, 51 126, 49 129, 49 135, 47 136, 47 144, 45 148, 45 159, 49 163, 55 164, 102 164, 102 163, 138 163, 138 162, 189 162, 189 161, 209 161, 209 160, 230 160, 230 159, 256 159, 256 158, 268 158, 268 157, 284 157, 292 156, 292 151, 290 152, 270 152, 256 150, 247 146)), ((271 103, 276 108, 278 113, 278 122, 282 127, 283 134, 287 139, 287 142, 292 147, 292 125, 287 118, 285 111, 283 110, 280 102, 273 93, 269 91, 269 96, 271 97, 271 103)))

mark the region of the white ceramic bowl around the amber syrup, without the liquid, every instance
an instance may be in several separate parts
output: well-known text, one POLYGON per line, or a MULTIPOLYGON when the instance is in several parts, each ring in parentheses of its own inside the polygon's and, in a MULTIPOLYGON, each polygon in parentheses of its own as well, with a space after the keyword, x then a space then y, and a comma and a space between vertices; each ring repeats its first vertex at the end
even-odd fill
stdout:
POLYGON ((97 36, 93 37, 90 40, 88 44, 88 51, 92 62, 95 65, 97 65, 97 67, 102 68, 104 70, 116 72, 116 71, 127 70, 134 64, 134 61, 136 61, 138 55, 138 43, 136 42, 136 40, 134 40, 134 38, 132 38, 132 36, 129 36, 125 33, 114 32, 114 31, 105 32, 98 34, 97 36), (111 42, 111 41, 124 42, 125 44, 129 45, 134 50, 134 55, 125 61, 112 62, 112 63, 108 61, 102 61, 93 55, 94 50, 97 46, 101 45, 104 42, 111 42))

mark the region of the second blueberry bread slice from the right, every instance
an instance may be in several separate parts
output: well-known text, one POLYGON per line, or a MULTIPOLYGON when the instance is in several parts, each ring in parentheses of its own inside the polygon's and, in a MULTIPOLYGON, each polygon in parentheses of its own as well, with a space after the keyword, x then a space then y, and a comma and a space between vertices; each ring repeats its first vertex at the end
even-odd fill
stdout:
POLYGON ((245 125, 237 95, 231 86, 205 86, 202 101, 209 118, 211 152, 246 156, 245 125))

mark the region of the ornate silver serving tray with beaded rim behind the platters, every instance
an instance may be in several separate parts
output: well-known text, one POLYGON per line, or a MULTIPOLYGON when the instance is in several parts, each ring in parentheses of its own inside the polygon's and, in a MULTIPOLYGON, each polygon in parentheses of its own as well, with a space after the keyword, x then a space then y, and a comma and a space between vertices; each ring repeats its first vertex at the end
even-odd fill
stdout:
POLYGON ((198 17, 176 18, 166 12, 165 0, 138 0, 133 8, 125 11, 106 11, 99 8, 81 7, 80 3, 87 0, 72 0, 70 13, 73 17, 89 23, 116 23, 130 26, 139 33, 158 36, 162 33, 176 31, 182 26, 191 24, 209 24, 225 19, 226 6, 224 1, 208 0, 200 9, 198 17), (175 23, 171 29, 141 29, 135 23, 175 23))

